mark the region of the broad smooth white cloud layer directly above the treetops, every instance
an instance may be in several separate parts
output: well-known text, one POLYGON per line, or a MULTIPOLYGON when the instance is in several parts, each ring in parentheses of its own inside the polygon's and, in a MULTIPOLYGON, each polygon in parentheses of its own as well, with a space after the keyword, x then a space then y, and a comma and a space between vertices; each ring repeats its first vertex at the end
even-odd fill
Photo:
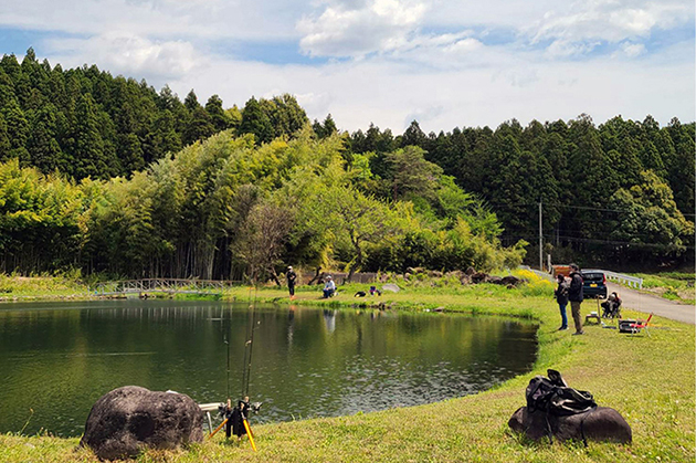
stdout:
MULTIPOLYGON (((693 53, 693 45, 679 46, 686 48, 673 53, 693 53)), ((616 114, 641 120, 652 114, 663 124, 673 116, 694 119, 693 62, 604 56, 582 63, 532 63, 517 53, 500 53, 497 60, 489 66, 413 72, 388 59, 318 69, 210 59, 209 67, 194 69, 171 86, 180 95, 194 87, 201 99, 218 93, 225 106, 282 90, 298 95, 310 119, 331 113, 340 128, 351 131, 373 122, 399 134, 414 117, 426 133, 496 127, 513 117, 523 124, 534 118, 570 119, 581 113, 597 122, 616 114)))

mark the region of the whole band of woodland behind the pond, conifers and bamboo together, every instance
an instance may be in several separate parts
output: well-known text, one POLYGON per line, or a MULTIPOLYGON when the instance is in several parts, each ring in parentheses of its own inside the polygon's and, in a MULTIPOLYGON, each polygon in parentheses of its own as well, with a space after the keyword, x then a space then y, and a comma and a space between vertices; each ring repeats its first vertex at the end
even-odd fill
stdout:
POLYGON ((0 61, 0 269, 491 269, 527 242, 536 263, 539 203, 555 262, 678 264, 694 256, 694 123, 651 116, 349 134, 291 95, 202 106, 30 49, 0 61))

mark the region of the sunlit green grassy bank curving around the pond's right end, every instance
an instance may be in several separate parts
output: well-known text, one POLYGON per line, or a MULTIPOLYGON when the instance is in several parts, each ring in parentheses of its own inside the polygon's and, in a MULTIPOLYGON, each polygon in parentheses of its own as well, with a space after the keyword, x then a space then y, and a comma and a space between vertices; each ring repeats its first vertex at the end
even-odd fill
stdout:
MULTIPOLYGON (((329 301, 300 287, 296 304, 351 309, 356 304, 394 309, 500 314, 539 322, 539 357, 534 371, 476 396, 377 413, 254 427, 259 452, 244 442, 212 441, 178 452, 147 452, 139 461, 348 462, 348 461, 688 461, 695 457, 694 326, 654 317, 652 336, 620 335, 587 326, 584 336, 559 333, 549 288, 537 282, 521 290, 500 286, 410 287, 381 297, 354 298, 366 285, 341 287, 329 301), (633 429, 633 443, 530 443, 510 433, 507 420, 525 402, 524 391, 546 368, 560 370, 570 386, 594 393, 600 406, 619 410, 633 429)), ((225 298, 287 305, 282 288, 235 288, 225 298)), ((630 308, 630 307, 629 307, 630 308)), ((586 304, 584 312, 590 307, 586 304)), ((636 314, 626 309, 624 316, 636 314)), ((443 315, 446 316, 446 315, 443 315)), ((366 398, 369 400, 369 398, 366 398)), ((95 461, 77 439, 0 435, 0 461, 95 461)))

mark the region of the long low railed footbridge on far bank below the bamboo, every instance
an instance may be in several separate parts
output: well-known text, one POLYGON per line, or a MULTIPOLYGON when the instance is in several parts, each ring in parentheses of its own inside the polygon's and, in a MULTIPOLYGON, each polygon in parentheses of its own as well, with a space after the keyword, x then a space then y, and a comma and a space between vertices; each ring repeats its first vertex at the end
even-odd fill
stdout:
POLYGON ((221 295, 231 286, 241 282, 226 280, 186 280, 186 278, 143 278, 104 282, 93 286, 96 296, 127 296, 138 294, 210 294, 221 295))

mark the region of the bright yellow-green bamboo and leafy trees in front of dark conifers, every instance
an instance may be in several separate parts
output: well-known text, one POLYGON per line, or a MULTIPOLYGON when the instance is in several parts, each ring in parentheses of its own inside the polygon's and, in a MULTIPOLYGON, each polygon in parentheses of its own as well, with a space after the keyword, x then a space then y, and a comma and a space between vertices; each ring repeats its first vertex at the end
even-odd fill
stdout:
POLYGON ((367 192, 368 164, 346 162, 342 146, 309 127, 261 146, 226 130, 128 180, 78 183, 10 160, 0 165, 3 270, 265 280, 287 263, 352 272, 521 261, 520 245, 500 246, 495 217, 420 148, 392 154, 433 172, 394 178, 405 197, 426 198, 416 204, 367 192))

